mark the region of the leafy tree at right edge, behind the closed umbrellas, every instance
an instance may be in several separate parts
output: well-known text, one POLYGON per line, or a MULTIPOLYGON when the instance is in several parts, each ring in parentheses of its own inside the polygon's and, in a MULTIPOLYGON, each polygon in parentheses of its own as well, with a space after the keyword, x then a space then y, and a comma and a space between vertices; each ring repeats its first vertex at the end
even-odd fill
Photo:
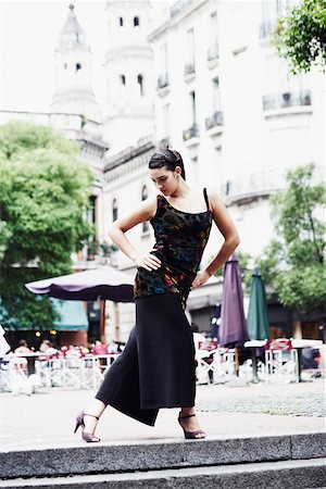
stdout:
POLYGON ((302 313, 325 311, 324 184, 314 184, 314 165, 287 175, 288 188, 271 199, 277 239, 260 260, 262 275, 279 301, 302 313))

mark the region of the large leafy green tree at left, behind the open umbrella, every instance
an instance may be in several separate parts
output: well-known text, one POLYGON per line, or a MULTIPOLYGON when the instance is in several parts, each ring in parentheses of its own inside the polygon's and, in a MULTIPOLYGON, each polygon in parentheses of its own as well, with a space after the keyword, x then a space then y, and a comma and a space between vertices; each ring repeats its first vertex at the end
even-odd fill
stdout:
POLYGON ((50 128, 22 123, 0 127, 3 326, 41 329, 53 324, 50 300, 32 294, 24 284, 70 273, 72 252, 91 233, 83 214, 92 176, 77 153, 77 145, 50 128))

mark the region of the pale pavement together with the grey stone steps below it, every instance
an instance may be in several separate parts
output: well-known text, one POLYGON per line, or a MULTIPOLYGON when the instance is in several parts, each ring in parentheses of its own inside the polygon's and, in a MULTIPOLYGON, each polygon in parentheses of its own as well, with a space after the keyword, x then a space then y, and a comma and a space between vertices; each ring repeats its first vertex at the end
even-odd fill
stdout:
POLYGON ((200 386, 197 405, 205 440, 184 439, 175 409, 161 410, 154 428, 108 409, 97 431, 102 441, 96 444, 73 435, 75 413, 93 392, 1 393, 0 487, 324 488, 326 430, 318 414, 324 389, 324 380, 200 386), (273 412, 283 398, 304 415, 261 412, 269 404, 273 412), (243 406, 256 412, 233 412, 243 406))

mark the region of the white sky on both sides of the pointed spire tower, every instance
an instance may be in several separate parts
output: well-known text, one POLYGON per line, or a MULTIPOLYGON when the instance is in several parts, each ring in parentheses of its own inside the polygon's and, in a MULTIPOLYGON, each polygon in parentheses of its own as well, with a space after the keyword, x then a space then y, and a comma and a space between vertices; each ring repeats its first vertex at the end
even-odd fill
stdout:
POLYGON ((92 87, 104 102, 104 1, 0 0, 0 110, 50 110, 53 51, 68 4, 74 3, 93 53, 92 87))

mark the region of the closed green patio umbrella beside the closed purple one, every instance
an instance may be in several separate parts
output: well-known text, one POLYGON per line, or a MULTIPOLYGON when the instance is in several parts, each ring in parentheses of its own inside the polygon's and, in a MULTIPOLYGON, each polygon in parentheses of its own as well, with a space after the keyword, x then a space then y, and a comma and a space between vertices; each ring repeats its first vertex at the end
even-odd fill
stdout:
POLYGON ((265 340, 269 338, 265 286, 259 266, 252 273, 247 322, 251 340, 265 340))

